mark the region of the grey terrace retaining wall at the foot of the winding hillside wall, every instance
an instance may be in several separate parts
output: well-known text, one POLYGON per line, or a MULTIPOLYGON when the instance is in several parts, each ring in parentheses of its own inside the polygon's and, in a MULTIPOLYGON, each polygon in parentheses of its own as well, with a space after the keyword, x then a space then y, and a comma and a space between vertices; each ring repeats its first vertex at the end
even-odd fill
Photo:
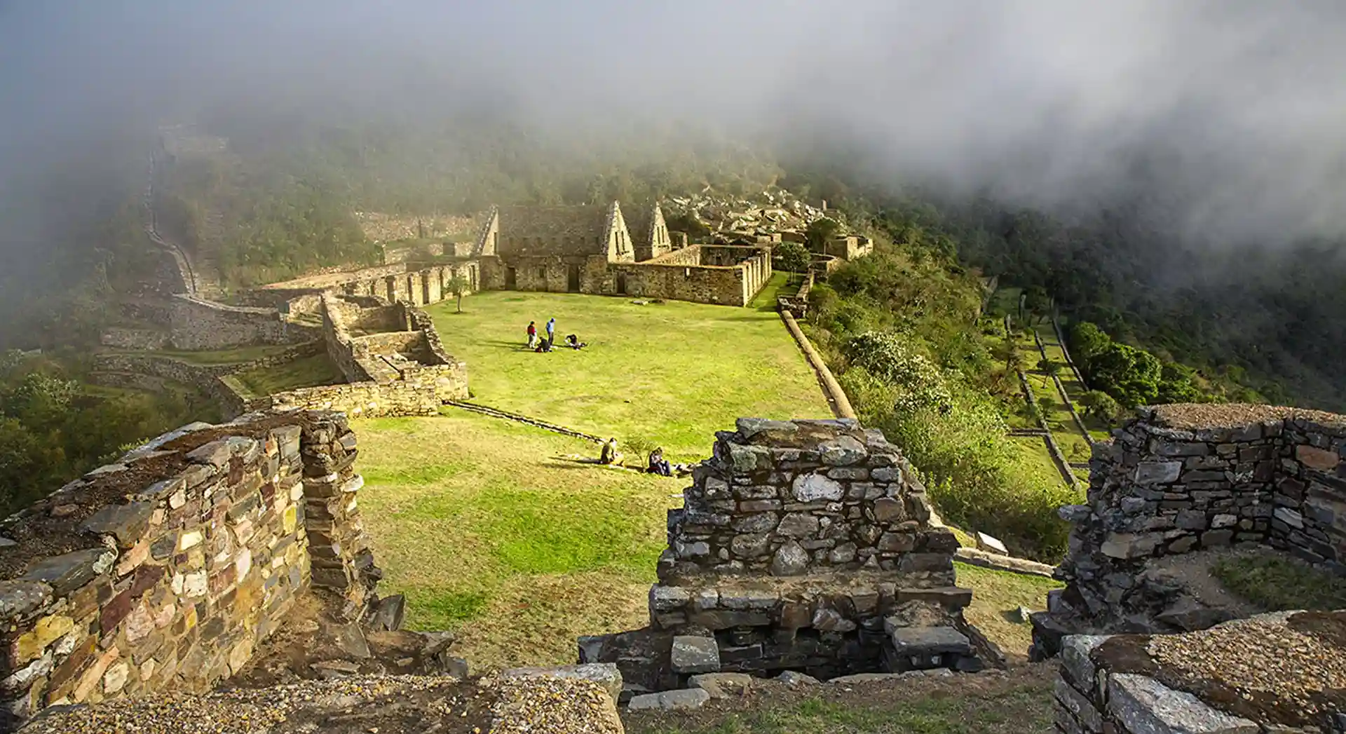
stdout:
POLYGON ((289 323, 272 308, 225 306, 186 295, 172 300, 171 342, 175 349, 232 349, 316 338, 322 338, 320 329, 289 323))

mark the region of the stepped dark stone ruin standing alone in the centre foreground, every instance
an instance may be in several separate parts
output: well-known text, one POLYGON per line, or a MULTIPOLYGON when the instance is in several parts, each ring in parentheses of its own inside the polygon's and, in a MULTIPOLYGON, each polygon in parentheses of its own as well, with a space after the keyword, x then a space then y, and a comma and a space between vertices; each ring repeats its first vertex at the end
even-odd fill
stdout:
POLYGON ((716 434, 650 590, 650 625, 584 637, 626 695, 688 676, 783 671, 821 679, 980 671, 1003 656, 962 618, 957 540, 930 524, 911 465, 853 420, 740 419, 716 434))

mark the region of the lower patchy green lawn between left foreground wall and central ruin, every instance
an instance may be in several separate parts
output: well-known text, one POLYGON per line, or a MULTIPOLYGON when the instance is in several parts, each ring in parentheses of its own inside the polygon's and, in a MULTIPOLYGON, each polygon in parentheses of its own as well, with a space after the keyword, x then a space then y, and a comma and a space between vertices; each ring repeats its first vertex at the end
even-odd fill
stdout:
MULTIPOLYGON (((361 505, 381 594, 452 629, 474 668, 575 663, 575 638, 635 629, 686 479, 583 465, 595 444, 446 408, 367 419, 361 505)), ((707 436, 709 440, 709 436, 707 436)))

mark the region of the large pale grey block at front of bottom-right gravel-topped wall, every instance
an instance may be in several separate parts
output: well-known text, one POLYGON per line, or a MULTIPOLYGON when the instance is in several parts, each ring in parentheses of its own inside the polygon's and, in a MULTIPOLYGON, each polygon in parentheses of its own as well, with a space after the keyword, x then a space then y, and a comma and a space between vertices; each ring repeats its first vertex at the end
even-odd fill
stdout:
POLYGON ((1244 718, 1217 711, 1197 696, 1132 673, 1108 676, 1108 710, 1127 731, 1155 734, 1259 734, 1244 718))

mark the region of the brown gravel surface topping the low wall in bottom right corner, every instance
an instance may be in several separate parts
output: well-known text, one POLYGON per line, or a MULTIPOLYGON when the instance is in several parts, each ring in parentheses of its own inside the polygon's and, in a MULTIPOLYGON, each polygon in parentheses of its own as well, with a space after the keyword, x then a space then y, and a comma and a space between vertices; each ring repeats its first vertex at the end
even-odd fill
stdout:
POLYGON ((1160 665, 1162 677, 1201 681, 1198 688, 1211 703, 1234 703, 1236 710, 1306 725, 1316 723, 1339 704, 1333 699, 1346 692, 1343 628, 1346 614, 1341 613, 1238 620, 1202 632, 1154 636, 1145 652, 1160 665))

